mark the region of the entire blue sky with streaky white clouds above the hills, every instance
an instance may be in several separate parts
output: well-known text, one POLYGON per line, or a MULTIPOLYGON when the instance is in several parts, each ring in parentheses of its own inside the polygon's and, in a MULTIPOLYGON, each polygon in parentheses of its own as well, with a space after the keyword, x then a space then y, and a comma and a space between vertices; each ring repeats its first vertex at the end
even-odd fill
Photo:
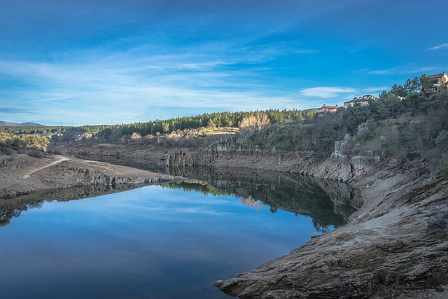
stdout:
POLYGON ((309 109, 448 71, 448 1, 0 0, 0 120, 309 109))

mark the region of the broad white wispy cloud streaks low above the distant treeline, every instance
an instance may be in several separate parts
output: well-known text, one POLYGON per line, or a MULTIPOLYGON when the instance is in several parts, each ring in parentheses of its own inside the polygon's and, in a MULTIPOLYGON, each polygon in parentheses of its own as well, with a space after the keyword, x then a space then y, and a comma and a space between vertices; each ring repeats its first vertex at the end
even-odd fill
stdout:
MULTIPOLYGON (((260 71, 255 62, 279 55, 276 46, 266 46, 255 58, 250 49, 235 57, 189 50, 151 55, 140 49, 118 57, 95 53, 90 60, 52 63, 0 60, 0 76, 33 86, 7 96, 30 107, 15 110, 26 120, 38 109, 41 123, 133 123, 214 111, 307 108, 298 105, 293 91, 266 83, 269 78, 260 75, 269 68, 260 71), (241 63, 248 67, 233 67, 241 63)), ((0 110, 0 119, 12 111, 0 110)))

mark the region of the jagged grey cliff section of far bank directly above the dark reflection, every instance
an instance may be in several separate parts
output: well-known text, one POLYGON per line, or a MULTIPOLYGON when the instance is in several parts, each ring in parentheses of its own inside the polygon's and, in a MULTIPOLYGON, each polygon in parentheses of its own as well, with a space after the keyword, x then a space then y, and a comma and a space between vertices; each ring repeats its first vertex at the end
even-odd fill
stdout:
POLYGON ((165 164, 170 169, 187 171, 197 166, 247 167, 338 181, 349 181, 379 165, 378 157, 342 155, 337 145, 336 151, 328 156, 314 152, 263 151, 244 147, 239 138, 231 137, 211 144, 200 153, 167 153, 165 164))

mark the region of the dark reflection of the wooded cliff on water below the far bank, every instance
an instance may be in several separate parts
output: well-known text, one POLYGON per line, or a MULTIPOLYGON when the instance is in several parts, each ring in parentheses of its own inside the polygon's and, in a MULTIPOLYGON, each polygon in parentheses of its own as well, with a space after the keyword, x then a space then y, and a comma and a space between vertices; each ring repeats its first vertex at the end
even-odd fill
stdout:
POLYGON ((344 225, 360 207, 356 191, 337 181, 248 169, 198 169, 186 182, 163 183, 169 188, 203 194, 233 195, 254 209, 269 206, 312 218, 318 231, 344 225))

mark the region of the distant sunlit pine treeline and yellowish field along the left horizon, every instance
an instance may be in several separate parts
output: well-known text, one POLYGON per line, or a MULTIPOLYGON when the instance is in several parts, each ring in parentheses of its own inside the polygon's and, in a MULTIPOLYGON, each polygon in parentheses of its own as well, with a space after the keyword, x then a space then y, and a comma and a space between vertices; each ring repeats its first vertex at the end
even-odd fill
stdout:
MULTIPOLYGON (((276 124, 310 118, 317 113, 317 109, 204 113, 200 116, 127 125, 5 126, 0 127, 0 151, 8 150, 11 153, 11 150, 29 147, 43 149, 49 141, 70 142, 91 137, 99 141, 120 143, 139 141, 160 146, 207 146, 216 140, 238 133, 239 124, 243 120, 251 119, 252 116, 258 116, 261 113, 262 116, 269 118, 267 123, 276 124)), ((50 152, 54 151, 53 146, 49 148, 50 152)))

